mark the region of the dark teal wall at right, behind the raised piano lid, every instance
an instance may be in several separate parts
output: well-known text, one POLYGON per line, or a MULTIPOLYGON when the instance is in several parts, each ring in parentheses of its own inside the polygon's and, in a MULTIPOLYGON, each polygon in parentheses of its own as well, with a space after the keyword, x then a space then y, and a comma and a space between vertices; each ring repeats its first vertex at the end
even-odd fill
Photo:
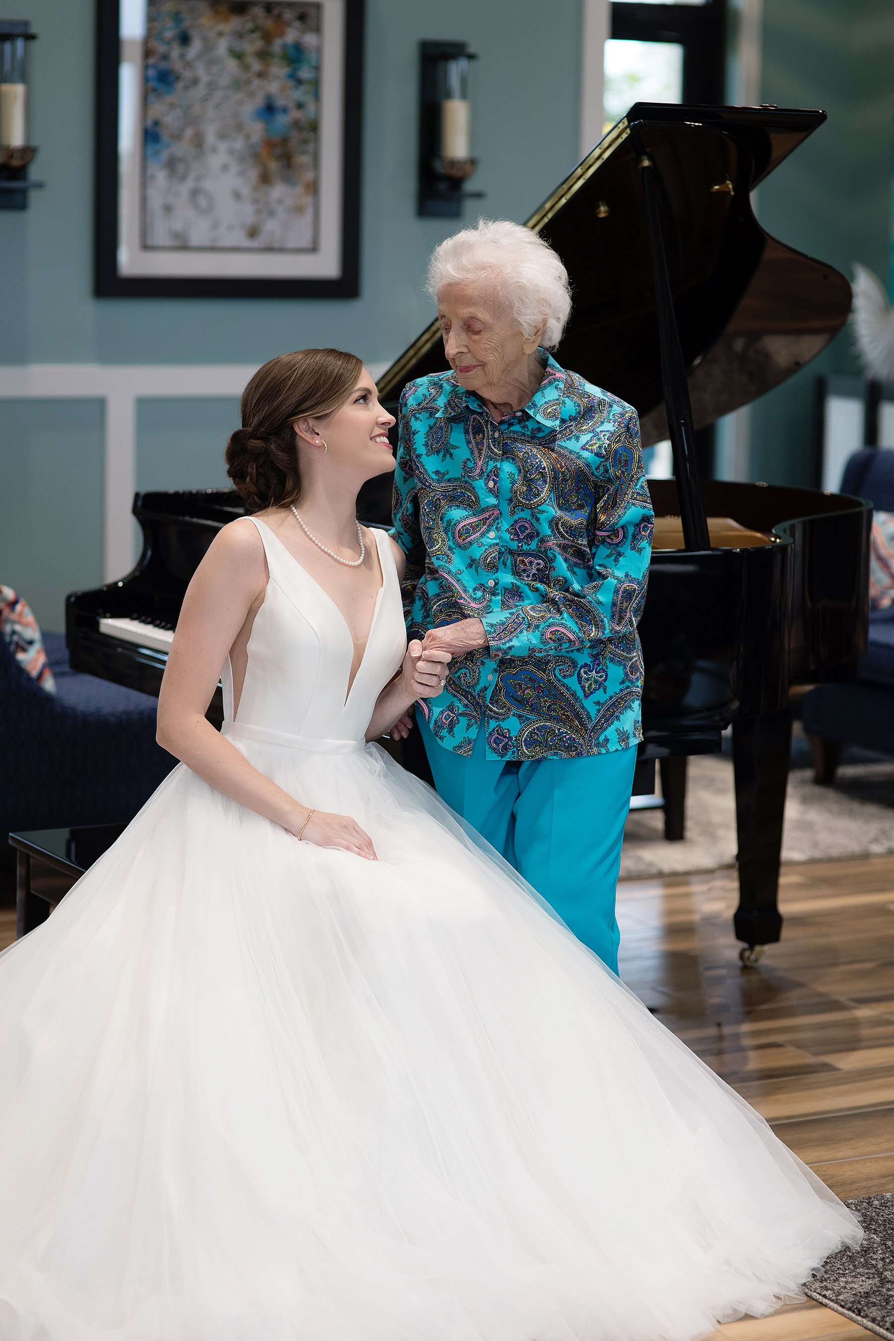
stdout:
MULTIPOLYGON (((764 0, 763 101, 828 121, 760 188, 763 227, 847 278, 887 279, 894 161, 891 0, 764 0)), ((812 390, 858 373, 846 327, 803 373, 752 409, 752 479, 812 484, 812 390)))

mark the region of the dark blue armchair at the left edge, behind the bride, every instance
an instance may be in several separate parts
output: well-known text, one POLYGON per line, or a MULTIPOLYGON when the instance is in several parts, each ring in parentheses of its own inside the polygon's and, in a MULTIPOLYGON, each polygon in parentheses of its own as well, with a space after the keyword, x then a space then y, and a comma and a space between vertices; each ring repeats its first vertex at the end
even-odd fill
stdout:
POLYGON ((44 636, 56 693, 0 638, 0 845, 17 829, 126 823, 174 767, 155 744, 157 700, 68 668, 44 636))

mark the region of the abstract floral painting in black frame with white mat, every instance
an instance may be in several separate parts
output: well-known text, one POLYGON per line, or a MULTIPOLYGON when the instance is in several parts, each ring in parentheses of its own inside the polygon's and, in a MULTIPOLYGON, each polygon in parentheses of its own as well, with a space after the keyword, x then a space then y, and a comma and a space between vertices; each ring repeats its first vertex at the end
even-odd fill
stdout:
POLYGON ((98 296, 358 294, 363 0, 99 0, 98 296))

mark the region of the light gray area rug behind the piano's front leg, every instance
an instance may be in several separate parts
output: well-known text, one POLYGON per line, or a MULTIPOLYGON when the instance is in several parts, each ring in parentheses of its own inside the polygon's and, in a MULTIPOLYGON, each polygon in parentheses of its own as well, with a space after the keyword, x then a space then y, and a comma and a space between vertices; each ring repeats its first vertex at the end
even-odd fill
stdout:
MULTIPOLYGON (((894 762, 846 764, 834 787, 810 768, 788 780, 783 861, 823 861, 894 853, 894 762)), ((631 811, 621 878, 717 870, 736 864, 733 766, 724 755, 689 760, 686 837, 665 842, 661 810, 631 811)))

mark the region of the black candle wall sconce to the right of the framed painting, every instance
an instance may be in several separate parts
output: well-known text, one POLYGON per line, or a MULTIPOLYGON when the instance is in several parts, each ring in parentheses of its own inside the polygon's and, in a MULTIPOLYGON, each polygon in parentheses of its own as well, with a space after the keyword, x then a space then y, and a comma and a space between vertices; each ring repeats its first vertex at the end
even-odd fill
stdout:
POLYGON ((469 60, 465 42, 420 43, 420 198, 418 215, 456 217, 477 168, 470 150, 469 60))

